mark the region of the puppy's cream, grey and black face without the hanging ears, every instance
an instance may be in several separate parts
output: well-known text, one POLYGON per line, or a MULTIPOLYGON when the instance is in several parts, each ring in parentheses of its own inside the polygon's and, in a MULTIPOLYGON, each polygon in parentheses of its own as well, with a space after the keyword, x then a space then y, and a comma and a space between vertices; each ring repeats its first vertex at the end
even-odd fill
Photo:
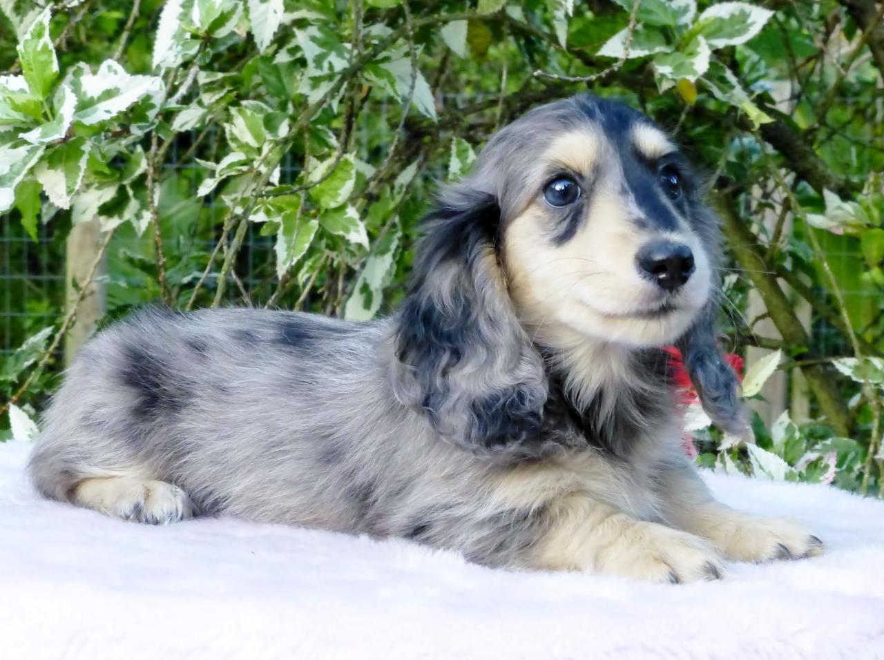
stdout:
POLYGON ((510 295, 537 338, 663 345, 688 329, 712 289, 710 214, 650 120, 578 97, 507 126, 483 156, 510 295))

